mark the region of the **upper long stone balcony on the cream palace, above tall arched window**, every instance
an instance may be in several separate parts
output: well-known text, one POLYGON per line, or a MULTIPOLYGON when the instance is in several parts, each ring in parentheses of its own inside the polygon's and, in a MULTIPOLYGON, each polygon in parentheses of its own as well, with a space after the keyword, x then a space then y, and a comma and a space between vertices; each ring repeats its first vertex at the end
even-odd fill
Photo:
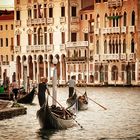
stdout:
POLYGON ((27 26, 45 24, 46 18, 28 19, 27 26))

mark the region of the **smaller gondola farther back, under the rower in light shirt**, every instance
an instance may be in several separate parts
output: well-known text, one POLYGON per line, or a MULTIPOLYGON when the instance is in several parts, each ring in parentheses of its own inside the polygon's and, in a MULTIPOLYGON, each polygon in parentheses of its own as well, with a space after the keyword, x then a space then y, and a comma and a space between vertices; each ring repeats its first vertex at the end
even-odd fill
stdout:
POLYGON ((88 109, 88 97, 86 92, 82 96, 77 96, 75 92, 72 97, 67 99, 66 102, 68 108, 73 107, 73 105, 76 103, 76 108, 78 108, 78 110, 88 109))

